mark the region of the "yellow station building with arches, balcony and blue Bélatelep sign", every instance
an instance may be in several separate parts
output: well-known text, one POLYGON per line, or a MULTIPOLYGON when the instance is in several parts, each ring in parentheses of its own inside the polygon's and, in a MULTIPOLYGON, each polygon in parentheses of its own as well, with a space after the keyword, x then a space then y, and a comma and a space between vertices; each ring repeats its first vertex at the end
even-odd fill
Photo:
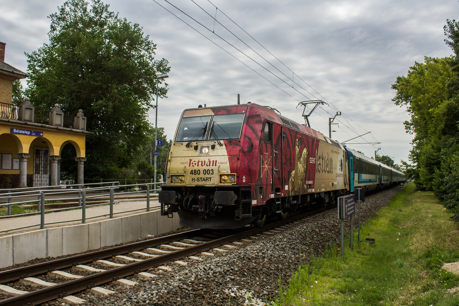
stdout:
POLYGON ((28 77, 5 62, 6 44, 0 42, 0 189, 55 186, 60 183, 62 148, 73 145, 78 163, 78 184, 83 184, 86 117, 35 108, 25 98, 12 102, 12 83, 28 77))

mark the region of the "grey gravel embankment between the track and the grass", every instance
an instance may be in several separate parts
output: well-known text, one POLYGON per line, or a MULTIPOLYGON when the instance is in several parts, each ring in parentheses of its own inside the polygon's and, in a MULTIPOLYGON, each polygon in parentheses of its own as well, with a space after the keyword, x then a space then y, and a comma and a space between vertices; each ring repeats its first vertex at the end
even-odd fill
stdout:
MULTIPOLYGON (((405 185, 406 186, 406 185, 405 185)), ((375 193, 361 205, 361 220, 365 222, 386 206, 400 186, 375 193)), ((357 225, 357 221, 354 223, 357 225)), ((336 243, 340 222, 336 209, 289 224, 274 235, 265 235, 225 253, 213 251, 215 256, 204 255, 204 261, 182 259, 188 263, 180 266, 170 262, 171 272, 150 273, 152 280, 130 277, 139 284, 133 287, 107 283, 101 287, 115 291, 108 296, 98 296, 89 290, 75 294, 86 300, 84 305, 264 305, 266 300, 278 297, 278 279, 285 285, 301 262, 323 253, 326 244, 336 243)), ((349 221, 345 222, 349 230, 349 221)), ((60 305, 59 300, 45 306, 60 305)))

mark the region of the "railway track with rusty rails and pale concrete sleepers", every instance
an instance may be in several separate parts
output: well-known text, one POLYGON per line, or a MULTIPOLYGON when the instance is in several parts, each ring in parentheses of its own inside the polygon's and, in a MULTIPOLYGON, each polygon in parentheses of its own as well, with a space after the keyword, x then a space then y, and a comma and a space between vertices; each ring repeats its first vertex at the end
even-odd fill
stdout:
POLYGON ((13 292, 13 294, 16 295, 0 300, 0 305, 39 305, 57 298, 66 298, 68 301, 72 301, 72 296, 70 296, 71 294, 85 289, 95 290, 94 292, 99 294, 101 293, 100 291, 102 291, 103 294, 104 289, 97 287, 98 285, 111 281, 129 284, 129 281, 124 280, 123 278, 134 274, 138 277, 154 278, 156 275, 143 271, 147 271, 152 267, 160 266, 170 261, 178 262, 178 260, 183 257, 202 260, 201 258, 193 255, 198 253, 205 255, 205 251, 209 249, 218 249, 218 247, 222 245, 228 246, 228 243, 236 240, 272 230, 284 224, 318 214, 330 208, 334 208, 334 206, 332 205, 326 208, 299 213, 285 220, 275 221, 263 227, 250 228, 248 230, 232 230, 222 234, 207 229, 196 229, 165 237, 153 238, 109 249, 97 250, 90 253, 74 255, 67 258, 2 271, 0 272, 1 283, 19 280, 22 283, 46 287, 30 292, 19 292, 21 290, 16 292, 11 290, 11 287, 9 286, 0 285, 0 289, 3 292, 8 292, 8 290, 10 290, 10 292, 13 292), (141 252, 140 250, 145 250, 145 252, 141 252), (120 254, 126 254, 127 256, 120 254), (129 255, 133 257, 130 257, 129 255), (135 257, 142 257, 146 259, 139 259, 135 257), (108 258, 113 258, 118 262, 124 261, 127 263, 120 264, 104 260, 108 258), (98 266, 106 266, 107 268, 97 269, 84 265, 84 263, 88 262, 93 262, 98 266), (75 269, 91 274, 81 276, 60 271, 72 266, 75 269), (43 273, 51 273, 54 276, 74 279, 70 279, 62 283, 41 283, 39 278, 31 277, 43 273))

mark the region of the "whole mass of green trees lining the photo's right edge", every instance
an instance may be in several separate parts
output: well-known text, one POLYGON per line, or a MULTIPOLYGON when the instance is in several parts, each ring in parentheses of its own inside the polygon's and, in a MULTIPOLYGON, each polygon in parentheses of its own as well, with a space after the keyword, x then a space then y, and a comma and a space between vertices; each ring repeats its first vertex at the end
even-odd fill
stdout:
POLYGON ((405 122, 414 135, 412 164, 403 162, 406 174, 417 187, 432 190, 459 221, 459 23, 448 19, 444 30, 454 54, 415 62, 392 85, 397 90, 392 100, 411 115, 405 122))

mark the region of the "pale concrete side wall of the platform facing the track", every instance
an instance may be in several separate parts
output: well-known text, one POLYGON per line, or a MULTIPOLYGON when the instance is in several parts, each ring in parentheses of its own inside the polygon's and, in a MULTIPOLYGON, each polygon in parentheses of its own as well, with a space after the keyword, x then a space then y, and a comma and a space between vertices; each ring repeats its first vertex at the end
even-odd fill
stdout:
POLYGON ((3 236, 0 237, 0 267, 135 241, 147 235, 156 236, 179 228, 178 215, 174 215, 174 219, 177 219, 175 222, 162 218, 168 219, 156 210, 87 224, 3 236))

